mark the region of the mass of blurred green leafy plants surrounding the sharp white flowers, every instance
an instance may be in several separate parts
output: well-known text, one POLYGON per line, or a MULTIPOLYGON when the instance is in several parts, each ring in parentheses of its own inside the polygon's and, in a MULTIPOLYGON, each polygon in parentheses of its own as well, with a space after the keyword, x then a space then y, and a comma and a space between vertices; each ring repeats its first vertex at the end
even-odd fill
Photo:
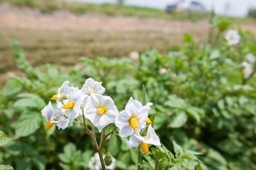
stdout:
MULTIPOLYGON (((241 40, 228 46, 223 33, 230 23, 212 14, 209 41, 198 47, 184 34, 179 51, 161 55, 156 50, 140 53, 138 59, 81 58, 82 67, 61 69, 45 64, 34 68, 16 41, 14 59, 24 74, 6 83, 0 96, 0 162, 15 169, 88 169, 95 151, 82 127, 65 131, 44 130, 40 111, 63 81, 83 85, 92 77, 102 84, 122 110, 130 96, 139 99, 142 85, 154 103, 154 129, 166 152, 164 169, 194 169, 179 145, 204 153, 204 169, 256 169, 256 78, 243 78, 241 62, 256 54, 256 36, 239 31, 241 40), (174 146, 174 147, 173 147, 174 146)), ((254 66, 255 71, 255 66, 254 66)), ((113 138, 110 152, 116 169, 136 169, 136 150, 113 138)), ((159 151, 156 151, 159 152, 159 151)), ((161 155, 152 151, 152 155, 161 155)), ((191 153, 192 155, 196 152, 191 153)), ((154 160, 143 160, 152 169, 154 160)), ((200 167, 196 167, 200 169, 200 167)))

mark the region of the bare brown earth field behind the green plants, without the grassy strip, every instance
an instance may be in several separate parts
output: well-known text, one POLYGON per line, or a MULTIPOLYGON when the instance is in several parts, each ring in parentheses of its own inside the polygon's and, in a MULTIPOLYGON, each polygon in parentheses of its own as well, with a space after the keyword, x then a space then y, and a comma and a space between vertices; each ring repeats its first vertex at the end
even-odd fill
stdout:
MULTIPOLYGON (((256 25, 243 24, 256 32, 256 25)), ((17 39, 33 66, 44 63, 68 66, 81 56, 120 57, 154 47, 167 52, 189 32, 196 41, 207 37, 207 21, 74 15, 68 11, 42 14, 10 4, 0 5, 0 87, 16 72, 10 38, 17 39)))

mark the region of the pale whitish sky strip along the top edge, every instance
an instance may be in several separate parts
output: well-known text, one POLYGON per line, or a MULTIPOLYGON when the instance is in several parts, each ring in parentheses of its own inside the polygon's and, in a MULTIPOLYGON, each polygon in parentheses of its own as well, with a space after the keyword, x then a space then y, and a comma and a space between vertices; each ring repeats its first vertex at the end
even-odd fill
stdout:
MULTIPOLYGON (((116 3, 116 0, 66 0, 84 1, 90 3, 116 3)), ((166 5, 175 3, 177 0, 124 0, 125 4, 148 6, 164 9, 166 5)), ((207 10, 214 8, 220 15, 244 17, 249 8, 256 7, 256 0, 196 0, 204 4, 207 10)))

